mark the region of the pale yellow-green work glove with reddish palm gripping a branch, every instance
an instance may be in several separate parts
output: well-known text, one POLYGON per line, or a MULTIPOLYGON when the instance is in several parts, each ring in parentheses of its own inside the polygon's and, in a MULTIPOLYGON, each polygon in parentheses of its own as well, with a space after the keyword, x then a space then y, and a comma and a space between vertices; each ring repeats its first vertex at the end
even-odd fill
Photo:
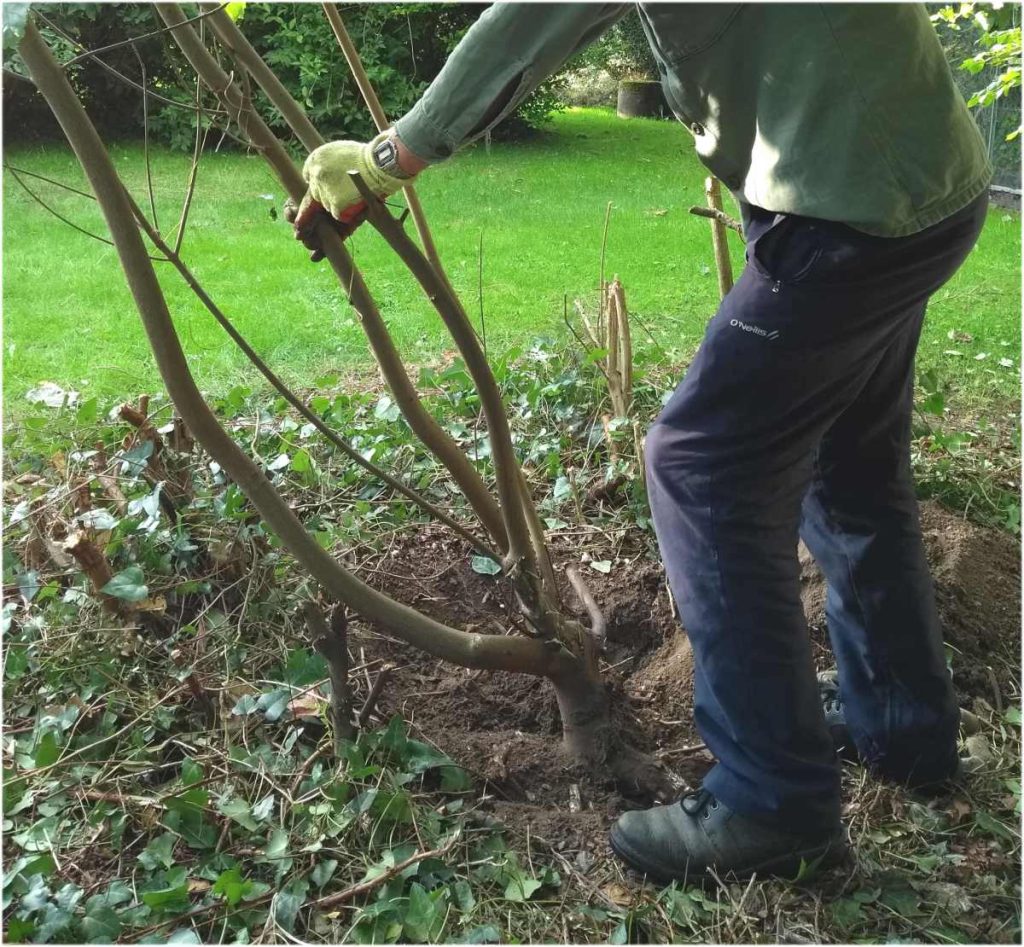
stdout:
POLYGON ((373 141, 329 141, 309 153, 302 166, 306 195, 298 207, 286 202, 285 219, 295 227, 295 239, 312 251, 314 263, 324 259, 315 233, 319 220, 330 220, 345 240, 367 218, 367 202, 349 177, 352 171, 381 199, 412 182, 412 176, 395 177, 377 164, 374 149, 389 135, 383 131, 373 141))

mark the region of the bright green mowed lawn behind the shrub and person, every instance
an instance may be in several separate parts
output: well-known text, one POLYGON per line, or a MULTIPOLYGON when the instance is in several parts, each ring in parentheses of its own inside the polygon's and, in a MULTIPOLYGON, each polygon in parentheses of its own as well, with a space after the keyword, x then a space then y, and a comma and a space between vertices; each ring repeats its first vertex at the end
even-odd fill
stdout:
MULTIPOLYGON (((142 149, 114 156, 138 202, 147 202, 142 149)), ((8 164, 88 189, 66 147, 12 146, 8 164)), ((189 158, 158 150, 153 175, 165 233, 177 220, 189 158)), ((622 121, 572 110, 524 143, 494 143, 431 169, 419 185, 442 259, 474 318, 482 240, 482 297, 492 351, 537 338, 570 343, 563 298, 593 304, 601 230, 612 202, 606 270, 670 358, 697 344, 717 304, 703 202, 705 169, 673 122, 622 121)), ((105 234, 95 205, 44 182, 31 186, 54 209, 105 234)), ((204 159, 184 239, 186 262, 256 349, 287 381, 310 386, 325 372, 362 371, 371 356, 326 265, 310 264, 280 215, 284 193, 256 156, 204 159), (272 219, 271 210, 278 219, 272 219)), ((101 401, 162 386, 113 248, 54 219, 4 174, 3 391, 8 418, 32 410, 41 381, 101 401)), ((382 312, 408 361, 434 362, 451 348, 437 316, 369 227, 352 240, 382 312)), ((732 241, 738 272, 742 248, 732 241)), ((158 272, 201 387, 256 387, 254 370, 166 264, 158 272)), ((993 208, 977 249, 933 300, 923 368, 936 365, 970 400, 1012 399, 1020 357, 1019 215, 993 208), (949 333, 956 339, 950 340, 949 333), (967 336, 971 341, 964 341, 967 336), (947 354, 952 352, 953 354, 947 354), (986 353, 983 358, 976 355, 986 353), (1008 360, 1004 364, 1000 359, 1008 360), (1008 363, 1009 362, 1009 363, 1008 363)), ((636 331, 642 346, 646 335, 636 331)))

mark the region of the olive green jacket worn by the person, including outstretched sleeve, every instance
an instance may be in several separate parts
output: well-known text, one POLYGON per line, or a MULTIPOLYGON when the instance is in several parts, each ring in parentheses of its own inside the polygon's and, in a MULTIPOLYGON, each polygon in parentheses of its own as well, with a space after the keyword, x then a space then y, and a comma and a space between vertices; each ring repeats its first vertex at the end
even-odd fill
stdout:
MULTIPOLYGON (((412 111, 429 162, 482 135, 628 4, 496 3, 412 111)), ((666 98, 740 200, 900 236, 988 185, 981 135, 924 6, 641 3, 666 98)))

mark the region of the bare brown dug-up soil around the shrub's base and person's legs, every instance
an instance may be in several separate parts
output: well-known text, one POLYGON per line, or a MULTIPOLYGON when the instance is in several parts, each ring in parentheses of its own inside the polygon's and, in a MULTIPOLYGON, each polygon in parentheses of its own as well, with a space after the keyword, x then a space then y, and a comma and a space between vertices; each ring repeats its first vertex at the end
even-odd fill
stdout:
MULTIPOLYGON (((962 703, 1019 699, 1018 544, 934 504, 923 506, 922 525, 962 703)), ((553 549, 556 571, 579 558, 568 542, 553 549)), ((638 748, 696 785, 713 760, 693 727, 691 654, 664 571, 640 544, 632 553, 609 551, 608 558, 614 560, 609 574, 585 571, 607 619, 605 678, 616 724, 638 748)), ((360 572, 376 588, 455 627, 521 632, 507 587, 474 572, 466 547, 443 530, 425 527, 396 537, 360 572)), ((824 583, 809 557, 802 582, 816 658, 824 670, 833 665, 824 583)), ((575 606, 567 586, 563 600, 575 606)), ((600 774, 567 765, 559 747, 558 708, 546 681, 456 668, 358 622, 350 641, 361 647, 365 660, 395 665, 379 701, 381 716, 401 715, 420 738, 472 773, 483 790, 480 807, 515 833, 586 863, 606 852, 609 822, 624 808, 645 802, 626 800, 600 774)))

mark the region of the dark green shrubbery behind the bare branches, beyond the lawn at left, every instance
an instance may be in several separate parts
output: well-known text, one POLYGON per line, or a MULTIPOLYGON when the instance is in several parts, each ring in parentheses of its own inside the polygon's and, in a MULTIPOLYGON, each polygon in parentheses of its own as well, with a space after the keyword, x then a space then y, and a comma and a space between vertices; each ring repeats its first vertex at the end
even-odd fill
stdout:
MULTIPOLYGON (((388 116, 397 118, 416 102, 481 10, 458 3, 374 3, 345 8, 346 27, 388 116)), ((228 4, 228 12, 242 20, 246 36, 326 137, 361 139, 375 134, 317 4, 228 4)), ((65 60, 80 51, 75 44, 99 48, 161 26, 147 4, 60 4, 48 9, 46 15, 55 29, 44 25, 45 38, 65 60)), ((16 16, 12 16, 11 24, 15 20, 16 16)), ((151 89, 184 106, 154 98, 150 103, 153 135, 172 148, 190 152, 196 137, 195 77, 173 43, 156 38, 139 45, 151 89)), ((130 79, 141 82, 143 74, 130 47, 112 50, 103 58, 130 79)), ((17 69, 16 56, 13 61, 17 69)), ((137 89, 119 82, 88 59, 72 68, 71 78, 86 105, 95 106, 90 114, 100 122, 101 131, 116 136, 142 133, 141 94, 137 89)), ((204 103, 212 103, 209 93, 204 93, 204 103)), ((286 140, 291 138, 281 116, 261 93, 256 95, 255 105, 279 134, 286 140)), ((544 124, 558 107, 557 84, 545 83, 496 134, 525 134, 544 124)), ((11 138, 55 130, 45 113, 32 111, 28 99, 15 97, 9 103, 5 100, 5 112, 8 110, 18 116, 15 121, 8 116, 6 129, 11 138)))

